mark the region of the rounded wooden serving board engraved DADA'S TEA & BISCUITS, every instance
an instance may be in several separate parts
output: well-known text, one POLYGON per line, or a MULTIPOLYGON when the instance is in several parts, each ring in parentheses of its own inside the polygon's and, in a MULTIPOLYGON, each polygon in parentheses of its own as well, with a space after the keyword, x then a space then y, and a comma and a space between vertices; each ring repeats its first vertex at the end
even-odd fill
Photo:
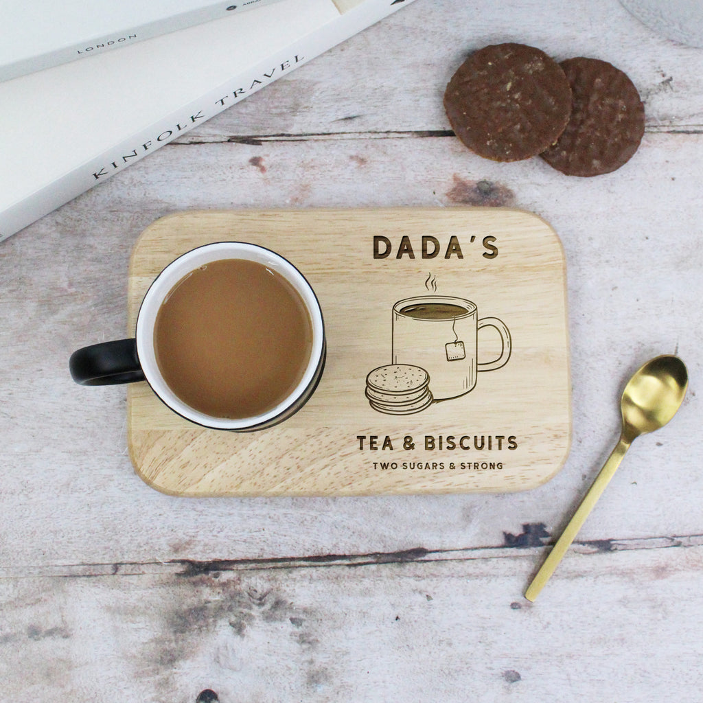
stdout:
MULTIPOLYGON (((565 257, 545 221, 481 207, 174 214, 150 225, 134 247, 130 335, 159 271, 222 240, 275 250, 308 278, 325 318, 325 372, 299 413, 249 433, 193 425, 146 383, 132 384, 129 451, 150 486, 178 496, 517 491, 562 467, 571 437, 565 257), (510 330, 510 358, 477 373, 460 397, 427 404, 423 396, 413 407, 411 394, 388 389, 372 406, 367 376, 392 363, 399 344, 394 304, 423 296, 468 299, 479 318, 499 318, 510 330)), ((476 342, 467 321, 451 334, 446 323, 411 322, 417 326, 402 342, 411 349, 400 353, 420 354, 420 362, 399 363, 420 366, 425 347, 446 348, 430 391, 475 363, 476 344, 477 362, 487 363, 507 343, 495 327, 479 330, 476 342)))

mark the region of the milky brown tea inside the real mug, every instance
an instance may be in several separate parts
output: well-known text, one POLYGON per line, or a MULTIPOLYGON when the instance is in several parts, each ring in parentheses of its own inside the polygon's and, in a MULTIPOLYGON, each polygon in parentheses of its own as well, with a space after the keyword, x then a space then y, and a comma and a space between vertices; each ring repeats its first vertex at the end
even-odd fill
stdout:
POLYGON ((156 361, 172 391, 215 418, 262 415, 293 392, 313 330, 302 297, 280 273, 221 259, 182 278, 158 311, 156 361))

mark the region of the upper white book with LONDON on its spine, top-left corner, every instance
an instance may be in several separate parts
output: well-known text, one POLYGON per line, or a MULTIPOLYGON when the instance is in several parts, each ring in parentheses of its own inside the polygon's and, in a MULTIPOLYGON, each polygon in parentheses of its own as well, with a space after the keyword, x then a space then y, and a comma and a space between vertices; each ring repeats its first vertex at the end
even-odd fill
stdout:
POLYGON ((0 81, 278 0, 0 0, 0 81))

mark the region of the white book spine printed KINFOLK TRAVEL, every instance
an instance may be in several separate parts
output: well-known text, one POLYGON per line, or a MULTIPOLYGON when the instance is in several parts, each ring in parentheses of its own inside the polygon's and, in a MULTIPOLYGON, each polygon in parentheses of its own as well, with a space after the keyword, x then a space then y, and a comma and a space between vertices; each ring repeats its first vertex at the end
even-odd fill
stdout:
POLYGON ((31 198, 0 213, 0 241, 411 2, 413 0, 375 0, 349 10, 292 42, 245 75, 208 91, 177 114, 164 117, 82 167, 67 172, 50 186, 33 193, 31 198))

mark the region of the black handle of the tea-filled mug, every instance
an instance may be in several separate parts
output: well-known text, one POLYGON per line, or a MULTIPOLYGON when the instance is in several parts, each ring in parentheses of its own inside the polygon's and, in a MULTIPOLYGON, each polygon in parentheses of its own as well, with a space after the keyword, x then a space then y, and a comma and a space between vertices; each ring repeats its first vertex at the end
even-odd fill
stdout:
POLYGON ((83 347, 71 354, 71 377, 82 386, 110 386, 146 379, 136 353, 136 340, 114 340, 83 347))

